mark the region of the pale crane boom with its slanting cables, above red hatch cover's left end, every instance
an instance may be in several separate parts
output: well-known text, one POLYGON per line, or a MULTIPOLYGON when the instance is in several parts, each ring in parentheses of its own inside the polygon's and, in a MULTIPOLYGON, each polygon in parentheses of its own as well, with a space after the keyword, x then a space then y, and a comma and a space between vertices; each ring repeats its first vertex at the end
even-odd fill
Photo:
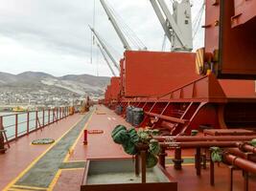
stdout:
POLYGON ((132 32, 132 30, 123 21, 118 22, 117 16, 115 16, 114 11, 110 10, 110 8, 106 5, 105 0, 100 0, 100 2, 115 32, 119 36, 125 50, 126 51, 133 50, 129 42, 131 42, 132 45, 136 46, 139 50, 147 50, 147 47, 142 43, 142 41, 136 36, 136 34, 132 32), (120 25, 122 24, 124 29, 121 29, 121 27, 118 24, 120 25))

